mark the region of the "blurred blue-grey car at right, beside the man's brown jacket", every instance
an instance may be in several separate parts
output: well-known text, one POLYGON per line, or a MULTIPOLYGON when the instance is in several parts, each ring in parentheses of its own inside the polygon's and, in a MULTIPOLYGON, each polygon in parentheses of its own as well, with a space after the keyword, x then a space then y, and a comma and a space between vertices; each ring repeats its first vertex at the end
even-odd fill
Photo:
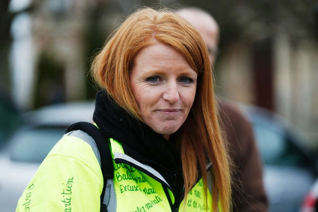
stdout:
POLYGON ((304 144, 307 138, 281 116, 242 105, 250 119, 264 162, 264 187, 269 212, 298 211, 316 176, 316 160, 304 144))

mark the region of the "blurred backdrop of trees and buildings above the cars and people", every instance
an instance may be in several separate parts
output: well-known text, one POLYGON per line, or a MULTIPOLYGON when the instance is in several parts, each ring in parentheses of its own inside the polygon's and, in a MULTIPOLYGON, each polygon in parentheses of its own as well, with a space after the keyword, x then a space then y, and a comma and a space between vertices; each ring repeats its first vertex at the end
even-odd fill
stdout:
POLYGON ((306 137, 295 143, 301 143, 305 153, 317 155, 318 2, 314 0, 1 0, 0 139, 23 123, 21 114, 94 99, 92 57, 143 5, 176 10, 191 6, 210 12, 221 31, 214 67, 218 94, 288 120, 306 137))

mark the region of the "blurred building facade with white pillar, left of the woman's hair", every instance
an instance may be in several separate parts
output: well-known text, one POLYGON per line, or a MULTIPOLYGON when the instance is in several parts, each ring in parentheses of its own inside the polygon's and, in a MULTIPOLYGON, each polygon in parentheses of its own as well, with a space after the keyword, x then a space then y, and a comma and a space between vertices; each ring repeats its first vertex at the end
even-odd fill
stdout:
POLYGON ((91 57, 140 1, 11 0, 12 95, 21 110, 94 98, 91 57))

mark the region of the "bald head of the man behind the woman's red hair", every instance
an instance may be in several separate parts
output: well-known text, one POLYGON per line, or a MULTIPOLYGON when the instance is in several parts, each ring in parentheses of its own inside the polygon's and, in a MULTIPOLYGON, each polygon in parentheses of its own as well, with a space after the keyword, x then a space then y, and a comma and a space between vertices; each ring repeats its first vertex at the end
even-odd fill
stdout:
POLYGON ((182 9, 177 12, 189 21, 201 34, 209 49, 210 63, 214 64, 219 42, 219 25, 207 12, 197 8, 182 9))

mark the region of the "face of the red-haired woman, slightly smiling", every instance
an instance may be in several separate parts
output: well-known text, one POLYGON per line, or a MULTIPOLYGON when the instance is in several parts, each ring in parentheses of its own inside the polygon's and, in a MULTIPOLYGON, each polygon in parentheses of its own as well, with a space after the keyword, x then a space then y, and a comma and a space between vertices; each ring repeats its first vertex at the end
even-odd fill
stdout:
POLYGON ((166 139, 188 117, 195 97, 196 72, 179 51, 156 42, 133 61, 130 83, 144 122, 166 139))

